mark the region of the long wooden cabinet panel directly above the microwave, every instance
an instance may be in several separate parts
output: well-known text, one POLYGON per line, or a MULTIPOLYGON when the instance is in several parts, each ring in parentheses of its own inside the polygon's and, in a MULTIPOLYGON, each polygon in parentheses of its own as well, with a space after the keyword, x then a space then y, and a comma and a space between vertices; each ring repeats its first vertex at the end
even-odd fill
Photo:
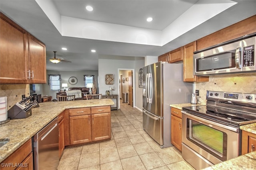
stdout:
POLYGON ((210 35, 197 40, 197 50, 202 50, 213 45, 223 43, 246 34, 256 32, 256 15, 234 23, 210 35))

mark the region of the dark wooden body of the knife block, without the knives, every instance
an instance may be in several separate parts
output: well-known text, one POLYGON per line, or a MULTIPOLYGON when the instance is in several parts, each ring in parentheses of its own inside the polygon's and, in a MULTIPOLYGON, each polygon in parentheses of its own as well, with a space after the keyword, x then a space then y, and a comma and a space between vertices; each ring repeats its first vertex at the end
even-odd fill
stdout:
POLYGON ((8 110, 7 115, 10 119, 24 119, 32 115, 32 110, 24 111, 20 107, 14 105, 8 110))

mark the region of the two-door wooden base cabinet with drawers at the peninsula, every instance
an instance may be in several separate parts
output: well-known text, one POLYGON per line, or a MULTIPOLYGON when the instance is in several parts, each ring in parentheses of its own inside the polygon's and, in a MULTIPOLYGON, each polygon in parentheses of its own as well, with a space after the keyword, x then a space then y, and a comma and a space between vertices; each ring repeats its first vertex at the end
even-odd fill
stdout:
POLYGON ((70 145, 111 138, 110 106, 69 109, 70 145))

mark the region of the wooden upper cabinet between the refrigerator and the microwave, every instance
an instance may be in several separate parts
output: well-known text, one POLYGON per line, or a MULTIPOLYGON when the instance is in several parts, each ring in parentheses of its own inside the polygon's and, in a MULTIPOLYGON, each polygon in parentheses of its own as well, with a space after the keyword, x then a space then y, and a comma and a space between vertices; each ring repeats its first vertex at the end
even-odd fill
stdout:
POLYGON ((196 51, 196 41, 183 47, 183 81, 184 82, 208 82, 209 77, 194 76, 193 55, 196 51))

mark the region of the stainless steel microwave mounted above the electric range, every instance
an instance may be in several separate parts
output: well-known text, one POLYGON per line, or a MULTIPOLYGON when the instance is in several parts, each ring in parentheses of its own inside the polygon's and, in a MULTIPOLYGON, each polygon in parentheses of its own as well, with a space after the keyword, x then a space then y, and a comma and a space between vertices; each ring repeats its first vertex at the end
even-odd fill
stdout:
POLYGON ((194 75, 256 72, 255 33, 194 52, 194 75))

